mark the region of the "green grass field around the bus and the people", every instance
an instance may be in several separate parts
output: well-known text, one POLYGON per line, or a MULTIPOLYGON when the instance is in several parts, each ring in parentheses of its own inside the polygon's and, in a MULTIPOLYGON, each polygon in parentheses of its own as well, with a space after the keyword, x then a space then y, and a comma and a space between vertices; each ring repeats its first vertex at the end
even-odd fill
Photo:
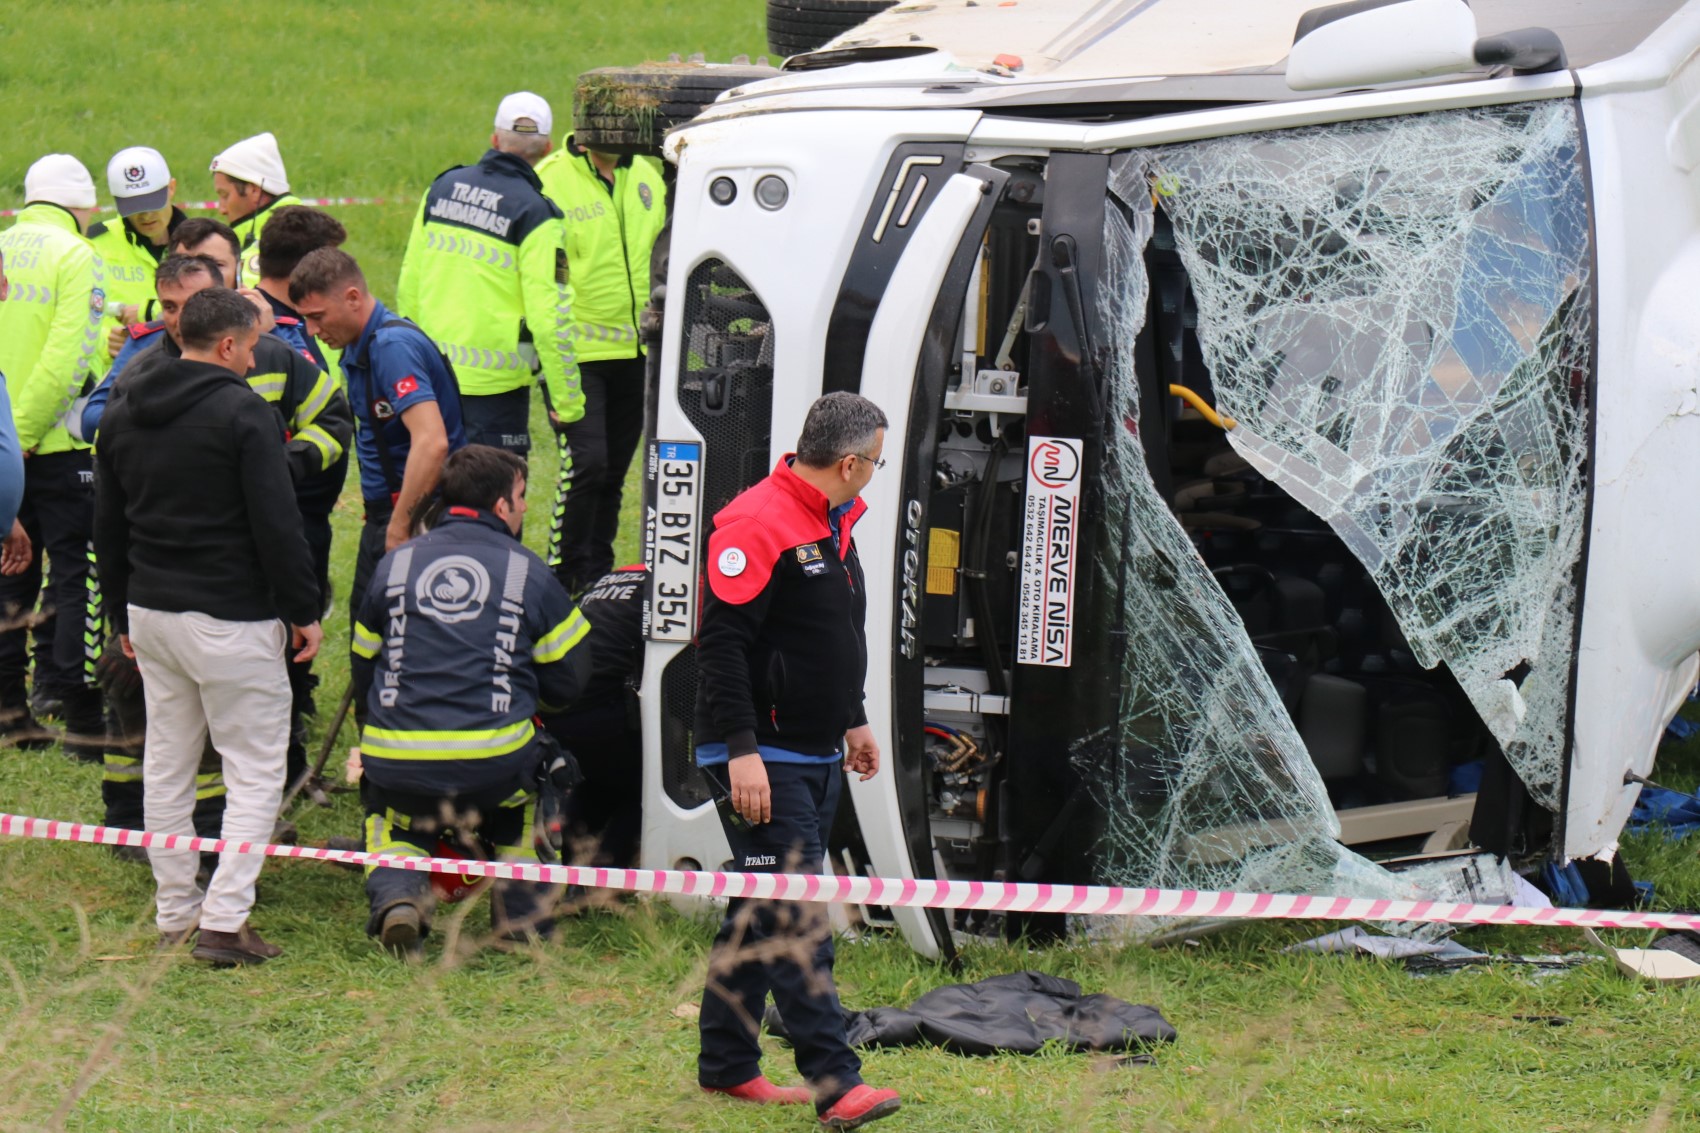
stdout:
MULTIPOLYGON (((537 90, 564 121, 580 70, 672 51, 753 56, 762 12, 760 0, 308 0, 270 10, 12 0, 0 5, 0 206, 20 202, 24 168, 41 153, 76 153, 100 180, 105 158, 138 143, 173 163, 180 197, 211 197, 212 153, 272 129, 303 196, 403 201, 338 211, 350 250, 388 296, 416 194, 481 151, 503 94, 537 90)), ((544 447, 534 459, 534 548, 552 478, 544 447)), ((345 504, 338 594, 359 521, 354 492, 345 504)), ((624 560, 636 549, 632 519, 629 507, 624 560)), ((326 624, 326 708, 347 679, 342 609, 338 601, 326 624)), ((1693 789, 1700 745, 1669 750, 1654 777, 1693 789)), ((99 818, 99 772, 56 752, 0 752, 0 810, 99 818)), ((299 820, 304 839, 321 840, 354 834, 359 815, 340 794, 299 820)), ((1700 907, 1697 842, 1627 842, 1634 874, 1658 883, 1659 907, 1700 907)), ((536 953, 466 954, 434 937, 428 963, 410 968, 364 937, 355 874, 272 863, 260 890, 255 924, 287 954, 211 971, 153 953, 144 868, 87 845, 0 842, 0 1131, 811 1124, 806 1113, 751 1113, 694 1089, 688 1005, 711 929, 670 907, 581 915, 536 953)), ((464 922, 440 924, 445 936, 476 939, 483 905, 459 912, 464 922)), ((1496 965, 1416 978, 1394 963, 1280 951, 1318 931, 1251 925, 1161 951, 971 948, 966 978, 1068 975, 1156 1005, 1180 1043, 1137 1068, 1064 1051, 872 1053, 869 1079, 904 1096, 904 1111, 877 1128, 1700 1130, 1700 990, 1637 985, 1606 963, 1547 976, 1496 965)), ((1462 939, 1504 953, 1583 948, 1567 931, 1462 939)), ((850 1007, 906 1004, 954 978, 898 941, 840 949, 850 1007)), ((772 1050, 770 1073, 794 1080, 789 1053, 772 1050)))

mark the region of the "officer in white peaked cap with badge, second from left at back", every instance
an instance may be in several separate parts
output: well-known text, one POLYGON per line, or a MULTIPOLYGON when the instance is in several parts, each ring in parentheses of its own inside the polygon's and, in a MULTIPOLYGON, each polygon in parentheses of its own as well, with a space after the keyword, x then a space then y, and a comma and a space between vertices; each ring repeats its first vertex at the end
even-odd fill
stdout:
POLYGON ((105 373, 124 347, 126 327, 158 315, 153 269, 165 259, 172 233, 189 219, 172 204, 177 180, 158 150, 129 146, 114 153, 107 162, 107 189, 117 219, 88 226, 88 243, 107 269, 107 337, 105 349, 95 352, 97 373, 105 373))

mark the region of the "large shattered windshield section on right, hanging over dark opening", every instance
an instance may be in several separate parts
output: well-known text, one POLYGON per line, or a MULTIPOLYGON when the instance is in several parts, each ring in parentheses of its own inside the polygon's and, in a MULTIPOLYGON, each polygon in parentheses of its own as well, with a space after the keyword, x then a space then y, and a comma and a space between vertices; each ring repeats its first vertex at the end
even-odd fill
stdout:
MULTIPOLYGON (((1556 810, 1586 505, 1571 100, 1166 146, 1229 441, 1324 519, 1556 810)), ((1132 192, 1136 185, 1125 191, 1132 192)))

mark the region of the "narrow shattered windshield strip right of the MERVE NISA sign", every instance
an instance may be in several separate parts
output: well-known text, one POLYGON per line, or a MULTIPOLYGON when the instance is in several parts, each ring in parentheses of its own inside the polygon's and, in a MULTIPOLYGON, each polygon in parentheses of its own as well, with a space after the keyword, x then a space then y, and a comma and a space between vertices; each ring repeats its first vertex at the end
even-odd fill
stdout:
MULTIPOLYGON (((1100 289, 1110 424, 1095 585, 1117 595, 1119 703, 1115 723, 1073 749, 1105 815, 1100 876, 1110 885, 1408 895, 1406 883, 1336 840, 1323 779, 1244 623, 1146 468, 1134 371, 1153 231, 1142 157, 1112 165, 1110 192, 1100 289)), ((1083 694, 1098 696, 1098 686, 1083 694)))

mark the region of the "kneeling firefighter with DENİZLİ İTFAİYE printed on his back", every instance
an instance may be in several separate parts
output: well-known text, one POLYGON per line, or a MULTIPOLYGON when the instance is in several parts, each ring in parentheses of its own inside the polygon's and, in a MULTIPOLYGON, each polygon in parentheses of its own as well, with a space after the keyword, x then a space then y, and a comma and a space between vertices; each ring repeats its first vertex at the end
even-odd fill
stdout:
MULTIPOLYGON (((437 527, 377 563, 354 619, 366 849, 430 857, 452 828, 466 857, 536 861, 534 786, 552 752, 532 716, 578 697, 590 623, 518 541, 522 459, 462 447, 444 464, 442 502, 437 527)), ((430 931, 430 878, 372 869, 366 893, 367 934, 413 954, 430 931)), ((496 881, 496 934, 549 936, 544 898, 541 885, 496 881)))

